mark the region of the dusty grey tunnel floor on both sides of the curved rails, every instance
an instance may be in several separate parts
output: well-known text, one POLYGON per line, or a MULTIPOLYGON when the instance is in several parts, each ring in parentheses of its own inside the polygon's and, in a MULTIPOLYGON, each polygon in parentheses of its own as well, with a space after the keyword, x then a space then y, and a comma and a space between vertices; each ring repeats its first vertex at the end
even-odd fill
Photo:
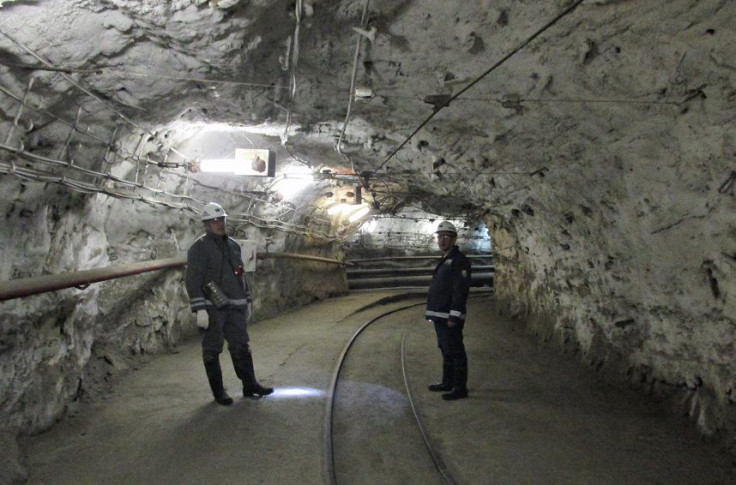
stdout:
MULTIPOLYGON (((152 359, 105 399, 21 443, 29 483, 327 483, 324 418, 335 363, 364 322, 421 302, 370 306, 392 294, 351 294, 251 325, 256 374, 276 388, 262 399, 240 396, 225 352, 225 383, 236 399, 215 404, 198 341, 152 359)), ((499 316, 490 296, 469 302, 470 397, 443 401, 426 390, 441 362, 422 313, 421 305, 397 312, 386 331, 405 335, 413 398, 456 483, 736 483, 732 457, 692 425, 539 345, 521 322, 499 316)), ((371 365, 382 365, 385 349, 376 350, 371 365)), ((394 411, 386 419, 412 412, 406 404, 394 411)), ((371 429, 359 432, 371 440, 371 429)), ((342 444, 334 446, 341 459, 342 444)), ((366 473, 365 465, 340 461, 337 482, 427 483, 383 473, 380 463, 366 473)))

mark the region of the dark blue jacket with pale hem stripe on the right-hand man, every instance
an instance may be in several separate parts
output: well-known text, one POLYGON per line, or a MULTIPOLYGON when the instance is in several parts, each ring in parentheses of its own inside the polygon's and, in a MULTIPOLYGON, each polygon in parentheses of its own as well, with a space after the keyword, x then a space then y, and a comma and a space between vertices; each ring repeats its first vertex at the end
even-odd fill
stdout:
POLYGON ((427 320, 465 321, 470 292, 470 261, 454 246, 434 269, 427 297, 427 320))

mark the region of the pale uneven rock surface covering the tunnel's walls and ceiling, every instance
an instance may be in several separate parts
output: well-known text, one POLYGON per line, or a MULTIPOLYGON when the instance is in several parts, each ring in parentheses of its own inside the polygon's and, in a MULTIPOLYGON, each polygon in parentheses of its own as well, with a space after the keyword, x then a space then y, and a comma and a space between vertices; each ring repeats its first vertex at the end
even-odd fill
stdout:
MULTIPOLYGON (((0 3, 4 280, 178 254, 215 199, 259 248, 342 257, 359 224, 326 216, 324 193, 354 170, 383 212, 486 224, 505 313, 734 446, 736 2, 587 0, 528 44, 573 2, 375 0, 362 24, 357 0, 0 3), (348 108, 353 85, 376 95, 348 108), (294 200, 193 173, 200 122, 268 126, 216 146, 332 171, 294 200)), ((332 268, 264 269, 264 311, 344 290, 332 268), (305 293, 314 271, 324 291, 305 293)), ((176 276, 122 281, 3 304, 12 422, 61 415, 99 336, 148 352, 184 332, 176 276)))

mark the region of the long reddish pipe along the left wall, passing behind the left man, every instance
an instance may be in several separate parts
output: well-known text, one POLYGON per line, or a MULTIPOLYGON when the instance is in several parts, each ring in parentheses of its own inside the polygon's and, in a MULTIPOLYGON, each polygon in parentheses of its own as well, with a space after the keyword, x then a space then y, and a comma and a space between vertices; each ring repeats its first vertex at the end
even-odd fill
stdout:
MULTIPOLYGON (((306 261, 317 261, 329 264, 345 264, 336 259, 311 256, 296 253, 256 253, 257 259, 297 259, 306 261)), ((83 290, 92 283, 107 281, 111 279, 133 276, 162 269, 179 268, 186 266, 185 257, 158 259, 143 261, 117 266, 107 266, 83 271, 59 273, 54 275, 36 276, 32 278, 21 278, 0 282, 0 301, 23 298, 26 296, 47 293, 50 291, 63 290, 66 288, 77 288, 83 290)))

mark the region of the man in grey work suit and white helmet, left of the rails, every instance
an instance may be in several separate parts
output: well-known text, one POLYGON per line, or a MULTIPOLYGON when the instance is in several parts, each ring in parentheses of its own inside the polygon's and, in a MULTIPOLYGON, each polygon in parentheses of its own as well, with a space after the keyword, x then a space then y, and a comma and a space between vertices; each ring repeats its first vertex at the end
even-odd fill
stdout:
POLYGON ((227 214, 210 202, 202 211, 206 233, 194 241, 187 253, 186 287, 190 306, 197 313, 202 335, 202 360, 215 401, 233 403, 225 392, 220 369, 224 341, 238 378, 243 381, 243 396, 265 396, 273 392, 256 380, 248 342, 247 320, 253 299, 245 283, 240 246, 227 236, 227 214))

